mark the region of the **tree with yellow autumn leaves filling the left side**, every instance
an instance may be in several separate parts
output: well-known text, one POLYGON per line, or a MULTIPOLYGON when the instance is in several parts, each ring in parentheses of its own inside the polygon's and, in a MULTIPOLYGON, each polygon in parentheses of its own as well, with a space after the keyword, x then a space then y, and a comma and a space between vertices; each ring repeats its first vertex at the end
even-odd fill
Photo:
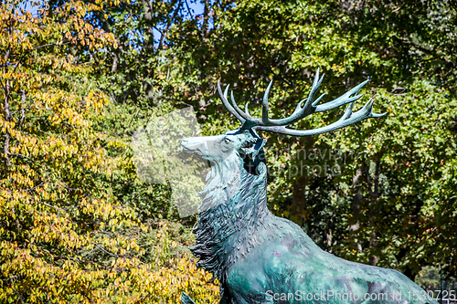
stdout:
POLYGON ((112 194, 126 165, 105 147, 124 144, 92 128, 109 100, 90 81, 93 64, 74 55, 116 44, 84 18, 102 3, 37 16, 17 7, 0 8, 0 301, 176 301, 183 289, 214 300, 208 274, 188 261, 141 260, 136 239, 156 230, 112 194))

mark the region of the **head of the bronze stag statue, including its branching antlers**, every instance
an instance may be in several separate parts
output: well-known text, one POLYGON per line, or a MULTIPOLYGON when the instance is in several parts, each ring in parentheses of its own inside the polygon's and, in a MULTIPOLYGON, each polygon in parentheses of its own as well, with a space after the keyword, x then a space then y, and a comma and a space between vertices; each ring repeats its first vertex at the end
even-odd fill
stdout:
MULTIPOLYGON (((374 101, 372 99, 368 100, 367 104, 362 109, 357 110, 356 112, 352 111, 355 101, 363 96, 362 94, 358 95, 358 91, 367 84, 368 80, 360 83, 353 89, 349 89, 336 100, 318 105, 319 101, 324 97, 324 94, 317 99, 314 98, 317 95, 323 79, 324 75, 319 78, 319 69, 317 69, 313 87, 308 97, 298 103, 290 117, 280 120, 271 120, 268 113, 268 96, 272 80, 263 97, 261 118, 250 116, 248 109, 249 103, 246 103, 244 111, 240 110, 233 98, 233 91, 230 93, 231 102, 228 102, 229 86, 222 92, 220 84, 218 83, 218 93, 222 103, 227 110, 241 122, 241 127, 219 136, 188 138, 183 140, 182 144, 185 147, 186 152, 195 153, 201 156, 203 159, 207 160, 207 162, 210 162, 211 166, 225 163, 225 167, 230 167, 232 165, 236 166, 239 162, 242 162, 242 166, 249 173, 256 173, 256 170, 252 169, 255 169, 259 162, 265 162, 262 147, 266 142, 266 140, 259 137, 256 131, 271 131, 293 136, 309 136, 334 131, 358 121, 363 121, 372 117, 381 117, 386 114, 373 113, 374 101), (293 122, 300 121, 315 112, 333 110, 346 104, 347 107, 343 116, 338 121, 325 127, 313 130, 292 130, 287 128, 293 122)), ((228 168, 228 170, 231 169, 228 168)))

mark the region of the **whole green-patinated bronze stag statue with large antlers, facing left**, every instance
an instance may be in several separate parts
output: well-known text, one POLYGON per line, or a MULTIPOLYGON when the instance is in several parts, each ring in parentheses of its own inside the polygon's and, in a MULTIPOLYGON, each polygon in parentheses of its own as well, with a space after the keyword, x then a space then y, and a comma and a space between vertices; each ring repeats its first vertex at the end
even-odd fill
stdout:
MULTIPOLYGON (((266 140, 256 131, 293 136, 322 134, 384 114, 372 112, 373 100, 353 112, 357 95, 367 81, 344 95, 318 104, 314 100, 322 82, 317 70, 311 92, 289 118, 269 117, 265 91, 261 118, 240 110, 228 87, 218 83, 218 94, 241 127, 219 136, 187 138, 186 152, 211 164, 207 184, 197 195, 199 206, 197 244, 190 247, 199 257, 197 267, 211 272, 220 282, 220 303, 434 303, 425 290, 397 270, 346 261, 316 246, 299 225, 272 215, 267 208, 267 167, 262 147, 266 140), (314 130, 287 126, 315 112, 347 105, 339 121, 314 130)), ((184 304, 195 302, 183 292, 184 304)))

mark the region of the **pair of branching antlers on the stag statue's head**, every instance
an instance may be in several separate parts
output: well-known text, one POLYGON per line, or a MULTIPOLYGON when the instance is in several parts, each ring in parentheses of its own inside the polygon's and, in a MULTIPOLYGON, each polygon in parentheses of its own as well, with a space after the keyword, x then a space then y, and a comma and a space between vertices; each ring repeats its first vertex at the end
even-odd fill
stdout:
POLYGON ((356 112, 352 111, 354 107, 354 103, 356 100, 361 98, 363 95, 355 95, 358 93, 358 90, 365 86, 368 80, 360 83, 353 89, 349 89, 345 94, 337 98, 336 100, 332 100, 326 102, 322 105, 317 105, 317 103, 324 97, 325 94, 319 96, 317 100, 314 100, 314 96, 316 95, 322 80, 324 79, 324 75, 319 79, 319 68, 317 69, 316 75, 314 77, 313 87, 311 88, 310 94, 308 98, 300 101, 293 111, 292 115, 288 118, 281 119, 281 120, 271 120, 268 116, 268 95, 270 93, 272 80, 265 91, 265 95, 263 96, 262 102, 262 110, 261 110, 261 119, 254 118, 250 116, 250 112, 248 110, 249 102, 246 103, 245 111, 239 109, 235 99, 233 98, 233 91, 230 94, 231 104, 228 102, 227 94, 228 94, 228 86, 222 94, 222 89, 220 89, 220 84, 218 83, 218 93, 220 95, 220 99, 222 103, 227 108, 227 110, 235 115, 235 117, 241 121, 241 129, 254 129, 259 131, 272 131, 275 133, 287 134, 287 135, 294 135, 294 136, 307 136, 307 135, 316 135, 322 134, 328 131, 334 131, 336 129, 340 129, 356 123, 358 121, 363 121, 368 118, 372 117, 381 117, 384 116, 386 113, 383 114, 376 114, 373 113, 373 102, 372 99, 368 100, 367 104, 360 110, 356 112), (352 96, 355 95, 355 96, 352 96), (351 97, 352 96, 352 97, 351 97), (304 103, 304 104, 303 104, 304 103), (340 120, 335 121, 334 123, 314 129, 314 130, 292 130, 287 129, 286 127, 292 124, 293 122, 300 121, 308 115, 311 115, 315 112, 323 112, 325 110, 332 110, 338 108, 342 105, 348 104, 345 114, 341 117, 340 120))

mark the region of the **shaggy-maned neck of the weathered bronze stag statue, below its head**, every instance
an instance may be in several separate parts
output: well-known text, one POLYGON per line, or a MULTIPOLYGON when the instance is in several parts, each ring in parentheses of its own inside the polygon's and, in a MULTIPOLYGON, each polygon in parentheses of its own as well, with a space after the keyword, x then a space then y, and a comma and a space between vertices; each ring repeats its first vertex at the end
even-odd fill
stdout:
POLYGON ((200 257, 197 266, 221 281, 224 270, 239 257, 275 237, 263 225, 273 215, 267 208, 266 166, 260 166, 259 175, 241 170, 239 179, 202 192, 204 211, 198 216, 197 244, 191 250, 200 257))

